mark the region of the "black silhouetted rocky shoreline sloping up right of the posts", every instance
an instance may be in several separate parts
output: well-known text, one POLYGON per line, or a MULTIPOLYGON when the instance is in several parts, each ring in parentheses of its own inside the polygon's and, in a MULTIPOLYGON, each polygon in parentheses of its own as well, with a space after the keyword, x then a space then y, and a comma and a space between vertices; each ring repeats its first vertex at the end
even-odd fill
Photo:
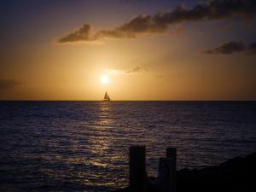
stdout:
MULTIPOLYGON (((256 152, 227 160, 218 166, 177 171, 177 192, 256 191, 256 152)), ((154 179, 154 178, 152 178, 154 179)), ((132 192, 129 188, 115 192, 132 192)), ((148 187, 148 192, 160 192, 148 187)))

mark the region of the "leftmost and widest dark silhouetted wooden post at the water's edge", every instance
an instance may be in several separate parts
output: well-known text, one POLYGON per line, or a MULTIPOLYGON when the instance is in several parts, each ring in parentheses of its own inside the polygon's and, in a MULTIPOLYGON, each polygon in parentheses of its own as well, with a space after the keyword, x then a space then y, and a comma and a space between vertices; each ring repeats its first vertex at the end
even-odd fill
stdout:
POLYGON ((145 163, 145 146, 130 147, 130 191, 146 192, 147 174, 145 163))

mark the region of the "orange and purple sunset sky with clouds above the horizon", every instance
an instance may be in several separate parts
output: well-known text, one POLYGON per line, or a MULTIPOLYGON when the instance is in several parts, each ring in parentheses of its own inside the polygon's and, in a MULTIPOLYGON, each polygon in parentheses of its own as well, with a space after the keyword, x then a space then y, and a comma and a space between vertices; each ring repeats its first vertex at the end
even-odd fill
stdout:
POLYGON ((1 100, 256 100, 255 0, 3 0, 0 13, 1 100))

